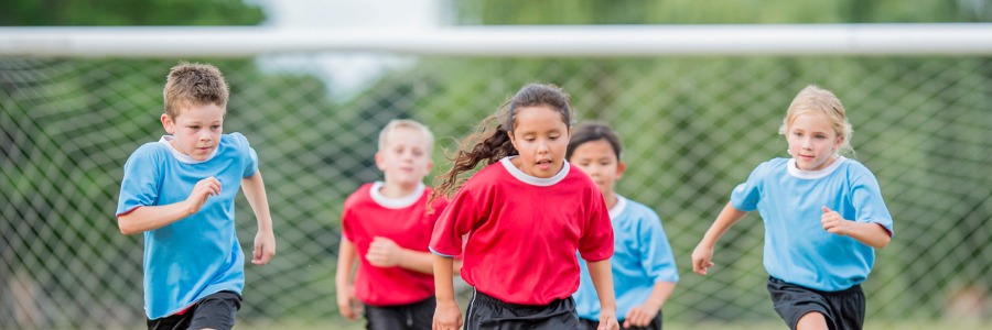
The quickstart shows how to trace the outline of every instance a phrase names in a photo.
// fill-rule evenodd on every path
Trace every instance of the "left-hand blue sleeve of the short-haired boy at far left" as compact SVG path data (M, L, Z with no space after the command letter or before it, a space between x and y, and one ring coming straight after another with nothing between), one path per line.
M128 157L120 183L117 217L138 207L153 206L158 202L159 187L162 184L159 167L161 157L158 143L144 144Z

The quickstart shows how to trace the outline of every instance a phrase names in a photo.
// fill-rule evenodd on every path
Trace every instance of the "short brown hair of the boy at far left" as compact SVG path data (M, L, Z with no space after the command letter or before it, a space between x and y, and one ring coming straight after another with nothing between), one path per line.
M217 105L227 108L227 81L216 66L180 62L165 77L165 114L175 119L183 107Z

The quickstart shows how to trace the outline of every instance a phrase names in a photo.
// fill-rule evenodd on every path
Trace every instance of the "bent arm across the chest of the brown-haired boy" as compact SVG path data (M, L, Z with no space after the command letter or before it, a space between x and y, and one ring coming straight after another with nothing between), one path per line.
M196 213L207 198L217 194L220 194L220 182L212 176L196 183L186 200L138 207L117 217L117 227L126 235L155 230Z

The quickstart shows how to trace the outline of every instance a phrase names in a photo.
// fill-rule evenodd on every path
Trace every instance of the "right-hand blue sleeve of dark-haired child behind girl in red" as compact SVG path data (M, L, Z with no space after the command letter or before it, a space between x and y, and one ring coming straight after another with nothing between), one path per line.
M675 254L671 252L671 244L668 243L661 219L655 212L646 213L638 228L640 255L644 256L641 266L655 283L679 282Z

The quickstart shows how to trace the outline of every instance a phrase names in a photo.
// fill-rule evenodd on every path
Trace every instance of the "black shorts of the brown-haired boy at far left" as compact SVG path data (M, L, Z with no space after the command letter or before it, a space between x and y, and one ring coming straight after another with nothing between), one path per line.
M219 292L200 299L186 309L183 315L171 315L164 318L148 320L149 330L185 330L213 328L229 330L234 328L235 315L241 308L241 295L233 292Z

